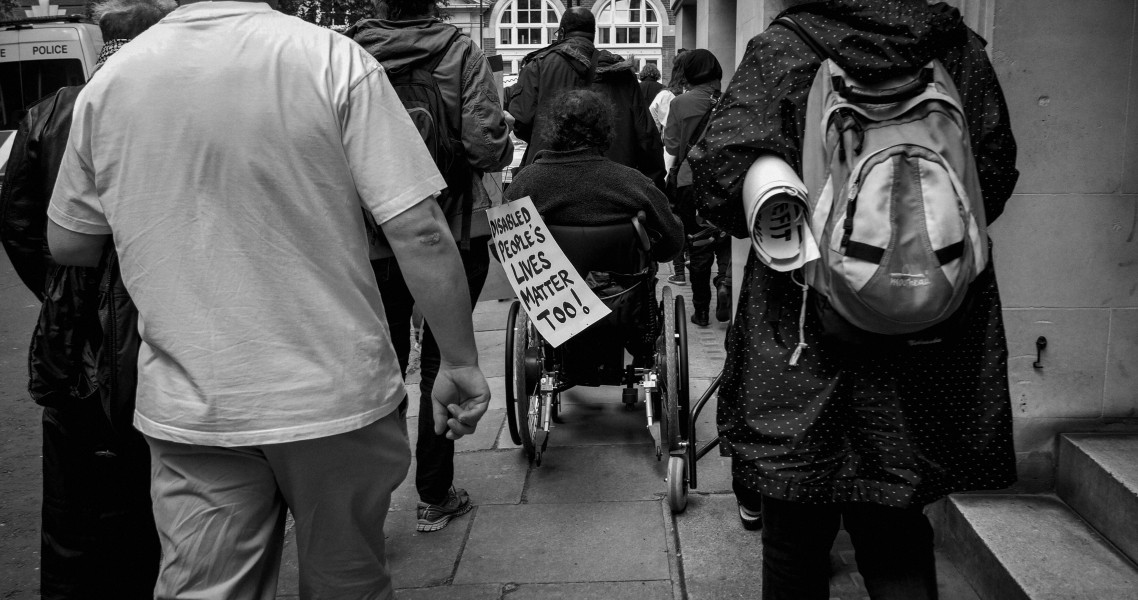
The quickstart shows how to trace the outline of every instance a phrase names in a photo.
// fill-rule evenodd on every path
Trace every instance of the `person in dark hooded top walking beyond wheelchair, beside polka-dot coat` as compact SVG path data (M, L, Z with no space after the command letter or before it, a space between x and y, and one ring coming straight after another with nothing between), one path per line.
M693 140L698 139L708 123L707 116L719 101L723 87L723 67L709 50L702 48L685 52L676 60L681 65L687 90L671 100L668 122L663 128L663 163L668 166L670 186L675 188L673 205L676 214L684 220L684 230L694 236L704 229L702 217L695 213L695 196L692 191L692 169L684 161ZM687 247L688 270L692 283L692 322L707 327L711 310L711 264L718 263L714 287L716 289L716 319L731 319L731 240L717 230L690 244ZM673 263L671 282L684 280L684 265Z

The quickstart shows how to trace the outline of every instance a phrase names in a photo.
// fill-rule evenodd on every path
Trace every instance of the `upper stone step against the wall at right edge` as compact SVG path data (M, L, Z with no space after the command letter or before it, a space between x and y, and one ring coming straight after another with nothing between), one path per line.
M1138 561L1138 435L1061 435L1055 487L1087 523Z

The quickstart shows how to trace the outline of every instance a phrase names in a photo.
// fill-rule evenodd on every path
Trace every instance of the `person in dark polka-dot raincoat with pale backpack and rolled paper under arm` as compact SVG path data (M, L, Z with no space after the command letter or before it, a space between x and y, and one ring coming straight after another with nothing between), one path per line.
M842 525L871 598L934 599L923 508L1015 482L1007 343L983 235L1019 178L1007 107L984 40L947 3L784 6L748 43L690 156L702 214L752 243L718 397L720 447L733 478L762 496L765 600L828 598ZM787 186L772 202L782 213L751 208L772 158L787 169L768 172L795 174L807 202ZM764 244L801 248L805 263L764 258ZM905 314L920 303L901 302L921 294L946 306L924 324ZM869 317L893 329L856 331Z

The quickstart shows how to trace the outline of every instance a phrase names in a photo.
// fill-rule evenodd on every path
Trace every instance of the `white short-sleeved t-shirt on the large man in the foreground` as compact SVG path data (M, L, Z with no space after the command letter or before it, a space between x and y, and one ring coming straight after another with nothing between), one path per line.
M135 426L239 446L403 400L361 206L445 187L379 64L248 2L170 14L80 94L49 216L114 233L140 313Z

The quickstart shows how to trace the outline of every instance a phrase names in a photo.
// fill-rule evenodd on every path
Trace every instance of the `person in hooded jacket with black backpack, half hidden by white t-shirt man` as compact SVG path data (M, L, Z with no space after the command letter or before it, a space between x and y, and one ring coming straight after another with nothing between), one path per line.
M345 34L384 65L446 179L447 189L438 200L459 243L473 305L489 270L489 224L484 215L488 204L480 189L481 174L502 171L513 158L494 74L473 40L437 17L435 0L382 0L377 8L381 18L356 23ZM382 240L373 245L373 258L384 311L405 377L414 299ZM415 443L420 502L415 528L434 532L469 511L471 504L467 492L453 485L454 442L436 435L431 420L439 348L429 322L423 328L420 365Z

